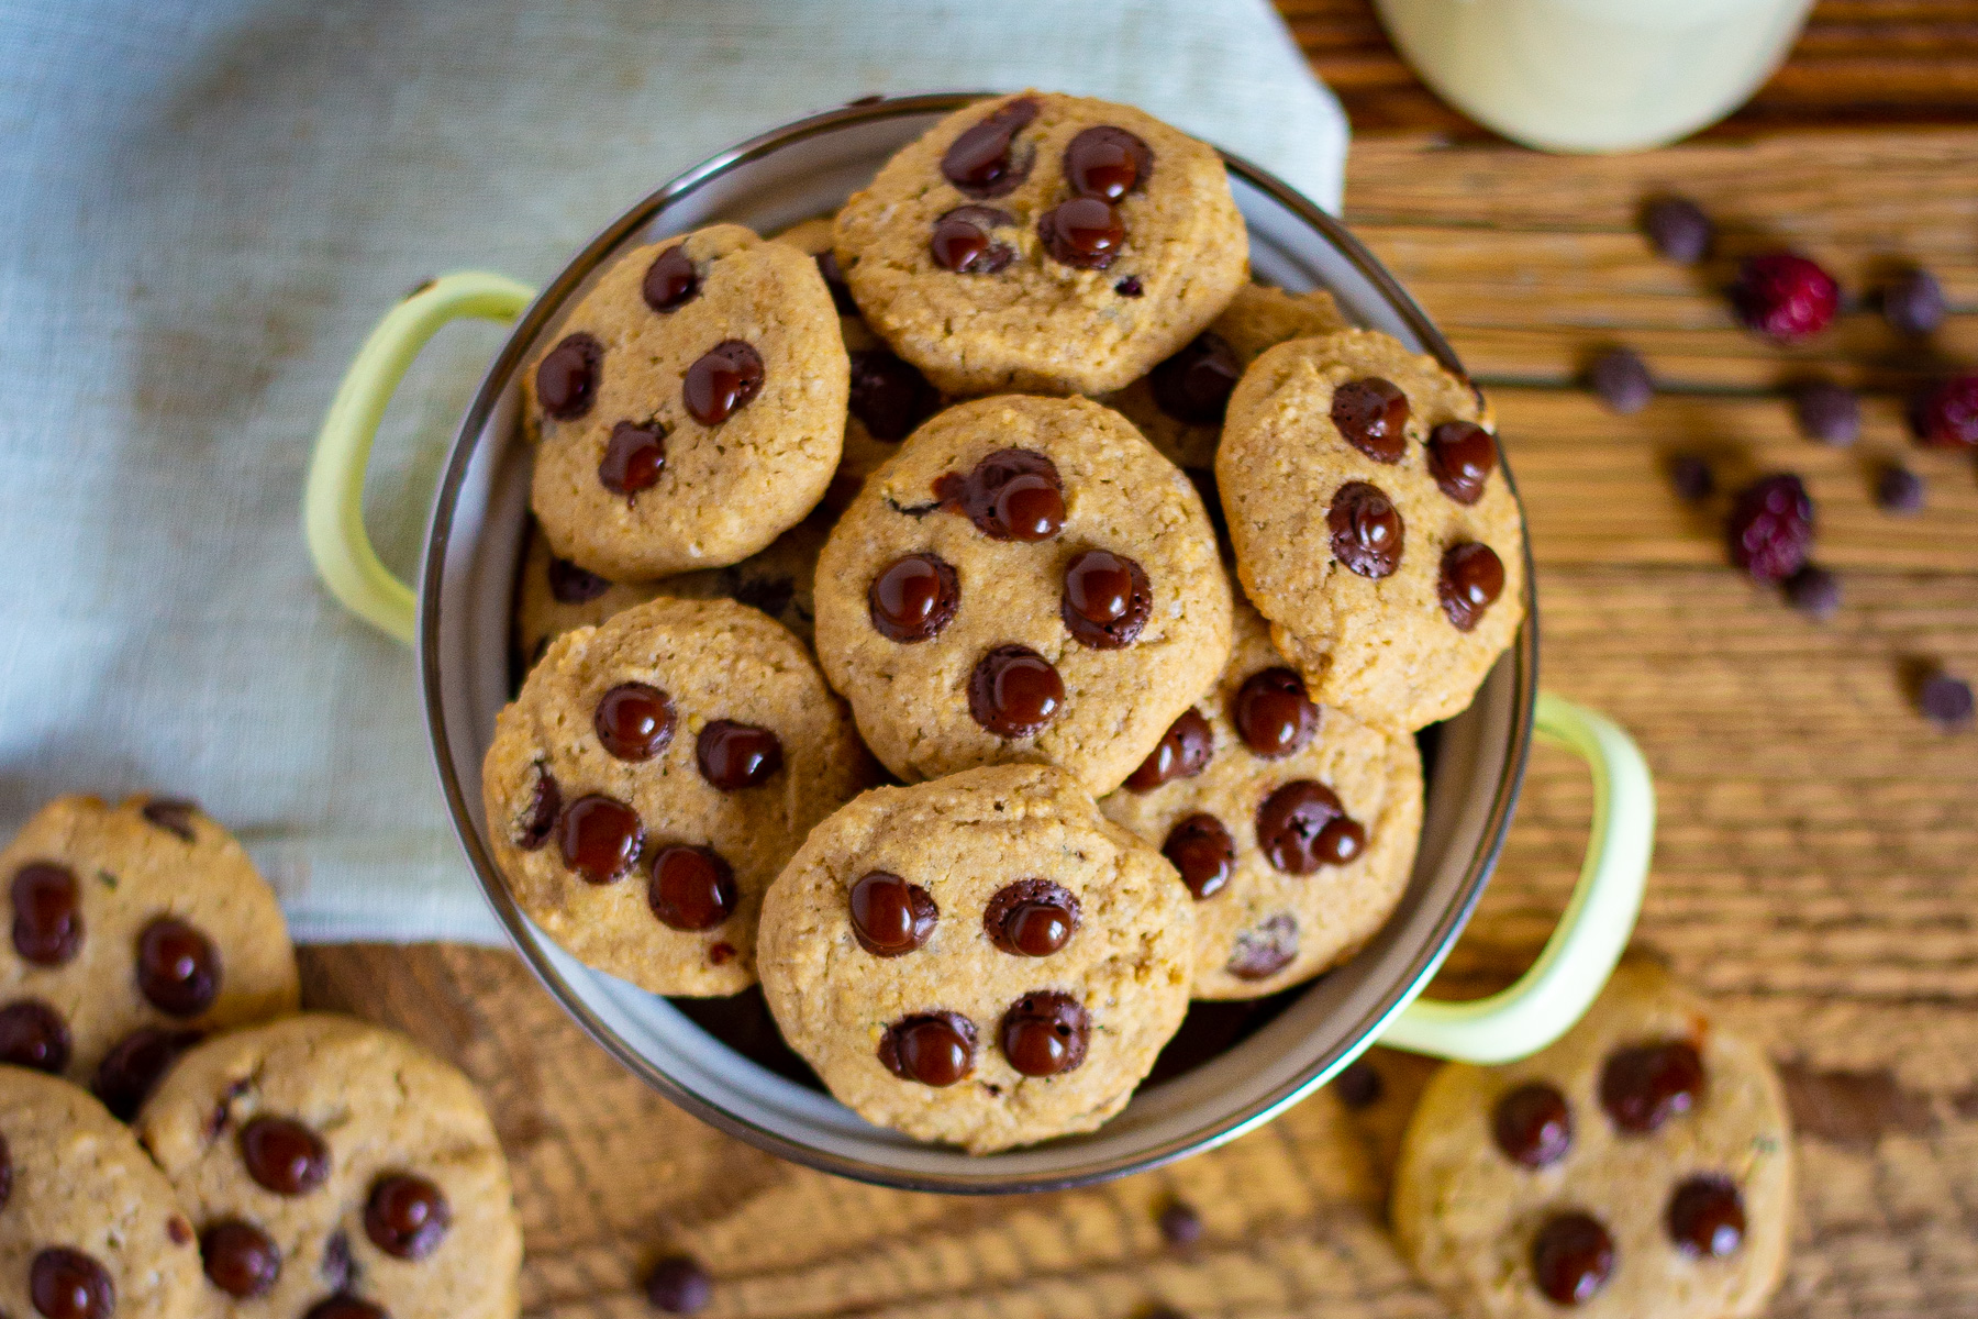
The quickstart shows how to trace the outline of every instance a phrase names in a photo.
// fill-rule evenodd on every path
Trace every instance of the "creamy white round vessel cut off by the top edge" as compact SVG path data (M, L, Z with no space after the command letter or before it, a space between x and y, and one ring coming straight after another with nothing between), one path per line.
M1478 123L1543 150L1644 150L1743 105L1812 0L1375 0L1394 45Z

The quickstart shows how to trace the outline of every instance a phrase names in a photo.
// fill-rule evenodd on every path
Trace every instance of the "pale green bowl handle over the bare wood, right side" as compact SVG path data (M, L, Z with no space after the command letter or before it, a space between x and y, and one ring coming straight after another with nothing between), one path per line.
M1547 692L1539 692L1537 732L1578 753L1594 775L1592 838L1573 900L1515 985L1474 1003L1416 999L1381 1034L1383 1044L1462 1062L1535 1054L1580 1018L1628 947L1656 846L1648 761L1618 724Z

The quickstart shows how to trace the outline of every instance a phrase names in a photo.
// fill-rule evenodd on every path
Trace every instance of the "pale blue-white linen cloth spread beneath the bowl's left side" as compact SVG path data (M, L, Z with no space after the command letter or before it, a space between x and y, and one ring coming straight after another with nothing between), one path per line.
M1131 101L1337 210L1345 119L1266 0L0 2L0 831L200 799L297 939L500 941L409 653L318 587L315 427L427 275L544 281L676 170L874 91ZM500 330L378 441L411 575Z

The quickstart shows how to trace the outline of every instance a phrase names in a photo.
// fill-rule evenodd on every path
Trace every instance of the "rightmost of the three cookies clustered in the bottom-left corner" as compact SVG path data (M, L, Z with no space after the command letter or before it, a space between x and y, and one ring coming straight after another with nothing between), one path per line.
M202 1315L518 1309L494 1123L465 1076L394 1030L311 1012L218 1036L136 1131L198 1232Z

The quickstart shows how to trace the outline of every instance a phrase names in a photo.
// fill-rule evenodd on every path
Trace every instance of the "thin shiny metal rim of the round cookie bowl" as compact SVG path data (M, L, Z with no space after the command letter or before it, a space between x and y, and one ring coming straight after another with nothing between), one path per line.
M667 1101L676 1107L686 1109L700 1121L716 1127L718 1131L738 1137L765 1153L777 1155L779 1159L789 1159L791 1163L811 1167L823 1173L833 1173L837 1177L847 1177L851 1181L868 1183L876 1187L892 1187L900 1190L930 1190L947 1194L1017 1194L1017 1192L1036 1192L1036 1190L1066 1190L1076 1187L1090 1187L1096 1183L1106 1183L1116 1177L1125 1177L1131 1173L1141 1173L1157 1169L1161 1165L1173 1163L1177 1159L1189 1157L1232 1141L1238 1135L1270 1121L1286 1107L1298 1103L1313 1090L1329 1082L1341 1068L1345 1068L1353 1058L1367 1050L1381 1034L1381 1028L1400 1012L1422 987L1440 969L1442 959L1448 955L1456 937L1462 933L1476 910L1478 900L1495 870L1497 858L1503 850L1505 835L1509 833L1511 815L1517 809L1517 797L1525 781L1525 763L1531 751L1533 740L1533 712L1537 702L1539 686L1539 613L1537 613L1537 587L1533 577L1531 562L1531 534L1529 528L1521 534L1521 554L1525 558L1525 621L1519 627L1517 637L1511 643L1509 655L1513 657L1513 696L1511 696L1511 730L1509 746L1505 747L1505 767L1497 779L1497 791L1491 799L1489 813L1482 827L1480 846L1470 858L1464 872L1462 884L1456 896L1446 904L1436 920L1432 933L1424 939L1422 949L1410 961L1408 973L1398 977L1381 1001L1361 1014L1361 1020L1347 1032L1349 1044L1339 1048L1335 1056L1323 1058L1309 1068L1305 1068L1296 1078L1288 1080L1284 1086L1272 1094L1256 1099L1240 1113L1224 1117L1189 1135L1163 1141L1147 1151L1133 1155L1120 1155L1102 1159L1098 1163L1082 1165L1068 1173L1040 1173L1040 1175L1019 1175L1001 1181L987 1179L961 1179L949 1177L945 1173L906 1173L890 1169L884 1165L874 1165L858 1159L849 1159L825 1149L817 1149L803 1141L791 1139L781 1131L773 1131L742 1115L736 1115L712 1099L684 1088L669 1074L653 1066L639 1050L635 1050L627 1040L623 1040L615 1030L611 1030L582 995L578 995L562 977L562 973L550 963L548 955L536 943L530 933L530 922L522 914L520 906L508 894L506 884L500 878L498 868L487 852L479 831L473 827L473 807L467 799L461 779L453 769L453 751L449 744L449 730L445 718L445 680L441 674L441 653L443 653L443 629L441 629L441 583L445 579L447 568L447 548L453 534L453 512L459 504L461 488L467 481L471 459L485 433L489 421L494 417L500 405L502 394L508 388L510 378L520 366L524 350L534 344L542 328L562 310L568 297L589 277L589 273L605 261L617 247L637 229L649 225L657 216L682 198L690 196L704 184L720 178L722 174L734 170L736 166L748 164L762 156L767 156L783 146L801 142L811 136L819 136L843 127L860 125L868 121L900 119L910 115L928 113L947 113L957 111L975 101L989 97L999 97L1007 93L999 91L934 91L916 93L902 97L860 97L849 101L843 107L829 109L805 119L791 121L777 129L760 132L744 142L738 142L722 152L716 152L702 160L700 164L682 170L669 182L661 184L657 190L647 194L643 200L627 208L617 220L607 223L603 229L591 237L589 243L554 277L542 287L528 308L514 320L508 338L502 342L500 352L489 364L475 397L463 413L461 425L455 433L453 445L447 453L447 463L439 479L439 486L433 496L433 514L425 538L425 562L419 570L419 678L421 696L425 702L425 722L427 734L433 747L435 769L439 771L441 791L447 799L447 811L453 817L455 835L461 840L461 848L467 854L469 864L475 870L475 878L481 884L483 896L500 922L502 931L508 935L508 943L522 957L534 977L548 989L550 997L584 1028L584 1032L599 1044L607 1054L611 1054L623 1068L645 1082L649 1088L659 1092ZM1389 303L1389 307L1408 324L1408 328L1420 338L1422 346L1448 370L1458 374L1462 380L1470 380L1456 350L1450 348L1448 340L1434 326L1428 314L1414 303L1414 299L1400 287L1400 283L1383 267L1367 247L1353 237L1347 227L1323 212L1317 204L1305 198L1302 192L1270 174L1268 170L1252 164L1250 160L1216 148L1224 160L1224 166L1232 176L1242 178L1246 184L1268 194L1274 202L1284 206L1288 212L1298 216L1305 225L1315 229L1327 243L1331 243L1339 255L1343 255L1353 269L1367 279L1375 291ZM1511 479L1509 465L1503 463L1501 471L1505 483L1511 488L1511 498L1517 500L1519 512L1523 514L1523 500L1517 494L1517 484Z

